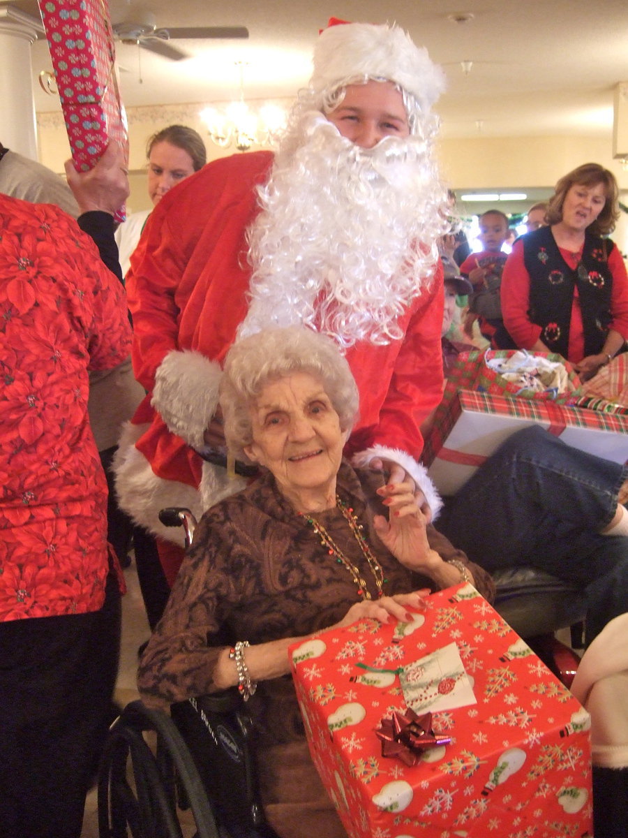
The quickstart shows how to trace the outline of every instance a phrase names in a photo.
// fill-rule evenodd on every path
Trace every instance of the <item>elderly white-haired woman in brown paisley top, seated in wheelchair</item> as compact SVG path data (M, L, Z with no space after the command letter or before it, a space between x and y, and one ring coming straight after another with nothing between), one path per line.
M330 340L289 328L235 344L221 393L229 450L264 473L203 515L138 684L153 706L237 685L270 824L281 838L344 835L307 752L288 647L358 618L403 620L461 579L494 588L412 484L342 460L358 392Z

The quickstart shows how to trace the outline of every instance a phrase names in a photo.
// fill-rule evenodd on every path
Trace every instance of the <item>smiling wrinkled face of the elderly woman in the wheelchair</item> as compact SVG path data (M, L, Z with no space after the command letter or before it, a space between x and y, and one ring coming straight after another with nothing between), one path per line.
M295 510L336 505L336 475L347 433L316 375L295 372L271 380L251 406L251 424L247 457L273 473Z

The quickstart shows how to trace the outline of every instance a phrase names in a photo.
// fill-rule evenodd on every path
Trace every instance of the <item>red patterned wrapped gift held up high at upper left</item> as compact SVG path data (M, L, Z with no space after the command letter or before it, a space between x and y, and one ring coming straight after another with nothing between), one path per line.
M126 115L106 0L40 0L72 159L92 168L111 140L128 160ZM124 207L116 220L125 220Z

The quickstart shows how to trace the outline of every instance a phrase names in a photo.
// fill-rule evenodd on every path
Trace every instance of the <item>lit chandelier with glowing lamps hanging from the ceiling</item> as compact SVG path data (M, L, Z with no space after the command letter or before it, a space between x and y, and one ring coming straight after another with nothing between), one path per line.
M275 142L286 124L286 112L281 107L265 104L254 110L245 102L246 64L235 62L239 70L239 100L230 102L224 111L207 107L200 115L212 142L221 148L234 145L239 152Z

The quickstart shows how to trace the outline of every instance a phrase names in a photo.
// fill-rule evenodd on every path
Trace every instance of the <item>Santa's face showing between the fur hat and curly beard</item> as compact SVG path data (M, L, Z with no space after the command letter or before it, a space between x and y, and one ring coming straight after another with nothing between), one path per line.
M342 102L327 119L361 148L373 148L383 137L410 134L403 96L392 81L347 85Z

